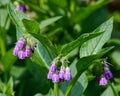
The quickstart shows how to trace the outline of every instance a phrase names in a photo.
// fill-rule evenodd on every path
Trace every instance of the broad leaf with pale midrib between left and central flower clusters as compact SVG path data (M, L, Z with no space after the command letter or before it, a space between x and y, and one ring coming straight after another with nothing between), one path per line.
M47 79L47 72L49 66L54 58L54 53L43 46L41 43L37 43L34 54L31 57L31 60L40 66L41 76Z

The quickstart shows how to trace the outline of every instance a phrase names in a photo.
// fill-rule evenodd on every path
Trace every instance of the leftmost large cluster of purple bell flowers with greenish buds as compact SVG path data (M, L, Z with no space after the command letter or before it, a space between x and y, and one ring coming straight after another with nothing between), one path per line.
M15 45L13 55L18 56L19 59L25 59L31 56L31 51L33 50L34 48L27 43L27 40L24 37L21 37Z

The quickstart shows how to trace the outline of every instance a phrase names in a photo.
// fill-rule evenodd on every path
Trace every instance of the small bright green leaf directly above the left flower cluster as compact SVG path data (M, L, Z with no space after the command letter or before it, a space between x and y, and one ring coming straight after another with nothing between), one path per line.
M37 23L36 21L34 20L28 20L28 19L23 19L22 20L25 28L26 28L26 31L27 32L30 32L30 33L38 33L39 32L39 23Z

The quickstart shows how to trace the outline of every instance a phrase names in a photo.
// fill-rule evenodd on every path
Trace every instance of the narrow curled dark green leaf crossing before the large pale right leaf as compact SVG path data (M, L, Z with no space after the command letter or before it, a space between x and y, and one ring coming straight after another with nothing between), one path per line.
M102 31L101 31L102 32ZM96 36L101 35L102 33L86 33L83 34L81 36L79 36L76 40L65 44L62 49L61 49L61 54L63 55L67 55L69 54L73 49L75 49L76 47L80 47L85 41L92 39Z

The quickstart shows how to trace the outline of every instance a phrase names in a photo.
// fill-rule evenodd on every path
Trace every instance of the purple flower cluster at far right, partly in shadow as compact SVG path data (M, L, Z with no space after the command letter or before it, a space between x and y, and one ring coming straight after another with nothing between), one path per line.
M113 77L112 72L109 69L107 64L104 64L104 71L100 77L97 77L97 81L99 85L106 85L108 84L108 80Z

